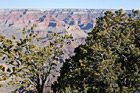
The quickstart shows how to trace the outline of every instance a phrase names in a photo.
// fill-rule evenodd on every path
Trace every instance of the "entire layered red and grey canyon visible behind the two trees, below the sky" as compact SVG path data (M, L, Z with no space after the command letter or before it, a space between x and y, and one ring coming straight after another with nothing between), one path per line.
M67 54L63 59L73 54L74 48L85 42L87 33L96 25L96 18L104 15L105 9L0 9L0 34L11 38L22 37L22 29L26 28L27 33L38 33L42 36L41 46L47 44L51 33L60 35L72 34L74 41L65 46ZM110 10L115 11L115 10ZM131 13L126 10L125 12ZM29 30L35 24L35 30ZM9 89L0 89L0 93L8 93Z

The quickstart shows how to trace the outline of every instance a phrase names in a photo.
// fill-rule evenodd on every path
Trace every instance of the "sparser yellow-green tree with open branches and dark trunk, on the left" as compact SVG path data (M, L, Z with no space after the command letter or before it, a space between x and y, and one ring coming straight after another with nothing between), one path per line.
M27 34L25 28L22 33L24 37L19 40L15 40L14 35L12 39L0 35L0 57L9 67L0 66L0 81L8 79L8 85L27 90L36 88L39 93L43 93L48 77L55 76L52 71L56 71L55 67L64 54L62 47L71 36L53 33L49 43L42 47L39 45L42 37L37 37L38 34Z

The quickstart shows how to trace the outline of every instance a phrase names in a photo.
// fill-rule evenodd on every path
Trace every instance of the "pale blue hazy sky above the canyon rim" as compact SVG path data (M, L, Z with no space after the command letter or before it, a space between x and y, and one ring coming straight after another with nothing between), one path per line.
M0 8L140 9L140 0L0 0Z

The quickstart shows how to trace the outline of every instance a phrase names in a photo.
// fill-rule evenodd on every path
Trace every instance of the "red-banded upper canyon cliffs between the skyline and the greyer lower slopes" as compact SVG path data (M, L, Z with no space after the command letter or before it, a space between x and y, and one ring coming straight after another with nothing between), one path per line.
M0 24L7 27L62 27L77 25L82 30L94 27L96 18L106 10L97 9L1 9ZM1 26L2 27L2 26ZM44 29L47 30L47 29Z

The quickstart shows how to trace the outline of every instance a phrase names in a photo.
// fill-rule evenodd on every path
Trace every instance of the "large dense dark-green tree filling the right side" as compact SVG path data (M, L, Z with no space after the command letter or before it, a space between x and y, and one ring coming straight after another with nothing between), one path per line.
M131 93L140 91L140 18L123 10L97 18L84 45L67 59L52 89L58 92ZM67 92L68 93L68 92Z

